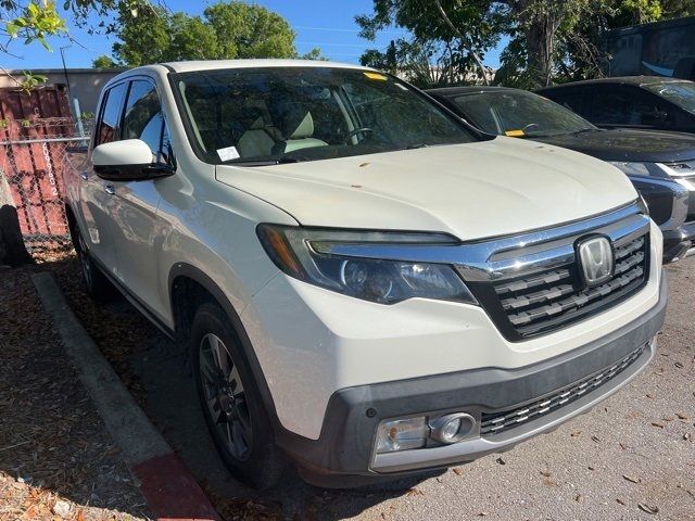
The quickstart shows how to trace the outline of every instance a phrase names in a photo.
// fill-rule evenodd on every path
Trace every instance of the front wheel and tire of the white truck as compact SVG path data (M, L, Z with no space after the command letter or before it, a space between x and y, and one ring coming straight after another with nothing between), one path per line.
M215 304L198 308L190 335L195 387L210 434L229 471L247 485L270 488L282 476L286 459L275 445L258 386L229 322Z

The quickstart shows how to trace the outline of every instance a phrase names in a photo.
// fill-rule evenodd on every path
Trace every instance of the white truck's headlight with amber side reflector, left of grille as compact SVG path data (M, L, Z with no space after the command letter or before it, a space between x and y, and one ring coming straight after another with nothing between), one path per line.
M332 253L337 245L382 245L388 247L389 258L394 258L393 252L397 252L399 246L456 244L446 234L321 230L275 225L260 225L257 233L278 268L311 284L380 304L414 297L477 304L450 265L388 260L378 258L378 254L371 258Z

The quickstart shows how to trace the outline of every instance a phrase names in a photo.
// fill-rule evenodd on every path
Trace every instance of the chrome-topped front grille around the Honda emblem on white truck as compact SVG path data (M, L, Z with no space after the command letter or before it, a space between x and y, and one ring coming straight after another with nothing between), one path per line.
M624 214L599 226L577 225L569 234L493 252L488 280L467 280L500 331L510 341L549 333L604 312L643 288L649 272L649 225L642 214ZM615 271L606 282L586 287L577 262L578 241L608 237ZM466 279L468 274L462 272Z

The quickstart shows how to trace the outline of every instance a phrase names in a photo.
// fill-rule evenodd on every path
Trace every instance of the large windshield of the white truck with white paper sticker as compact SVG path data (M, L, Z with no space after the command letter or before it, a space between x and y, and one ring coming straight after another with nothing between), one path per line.
M210 163L274 164L480 139L392 76L332 67L176 76L189 137Z

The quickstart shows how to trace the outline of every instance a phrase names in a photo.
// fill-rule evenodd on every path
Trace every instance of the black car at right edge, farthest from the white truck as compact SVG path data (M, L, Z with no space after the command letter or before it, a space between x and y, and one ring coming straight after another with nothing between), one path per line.
M602 78L538 90L603 128L695 134L695 82L660 76Z

